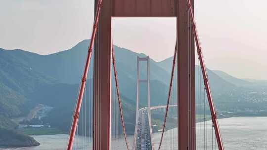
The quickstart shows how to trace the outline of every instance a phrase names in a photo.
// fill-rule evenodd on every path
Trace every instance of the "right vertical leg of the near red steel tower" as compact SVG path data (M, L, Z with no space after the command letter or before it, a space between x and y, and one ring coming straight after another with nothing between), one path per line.
M177 7L178 150L195 150L194 37L187 1L178 0Z

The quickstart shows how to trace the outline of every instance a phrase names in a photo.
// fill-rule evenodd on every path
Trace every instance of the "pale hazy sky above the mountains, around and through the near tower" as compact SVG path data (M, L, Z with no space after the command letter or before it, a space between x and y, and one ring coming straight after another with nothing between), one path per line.
M195 0L208 68L267 79L267 0ZM0 0L0 47L39 54L88 39L93 0ZM156 61L173 55L174 18L114 18L114 44Z

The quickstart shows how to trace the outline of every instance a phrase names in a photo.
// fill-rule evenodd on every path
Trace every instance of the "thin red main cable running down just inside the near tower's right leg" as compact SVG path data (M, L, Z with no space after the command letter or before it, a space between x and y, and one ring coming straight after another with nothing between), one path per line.
M168 110L169 110L169 105L170 105L170 98L171 98L171 93L172 93L172 86L173 86L174 70L175 70L175 64L176 64L175 63L176 62L176 55L177 55L177 44L175 46L175 53L174 53L173 67L172 67L172 75L171 75L171 81L170 81L170 86L169 86L169 94L168 94L168 100L167 100L167 107L166 107L166 112L165 112L165 116L164 116L163 130L162 130L162 134L161 134L158 150L160 150L160 147L161 147L161 144L162 144L162 140L163 140L164 131L165 131L165 127L166 127L166 119L167 119L167 115L168 115Z

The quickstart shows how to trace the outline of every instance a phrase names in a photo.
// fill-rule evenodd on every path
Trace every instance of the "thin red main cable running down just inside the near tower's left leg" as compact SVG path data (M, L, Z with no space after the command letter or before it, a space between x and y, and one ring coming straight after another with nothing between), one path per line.
M114 70L117 97L118 97L118 102L119 102L121 124L122 124L122 128L123 128L123 134L124 134L124 139L125 139L127 150L130 150L129 149L129 144L128 144L128 141L127 141L127 137L126 137L125 123L124 123L124 119L123 119L123 110L122 110L122 103L121 103L121 97L120 97L120 92L119 92L118 76L117 76L117 71L116 71L115 56L114 56L114 49L113 49L113 43L112 42L111 42L111 47L112 47L111 48L112 64L113 64L113 70Z

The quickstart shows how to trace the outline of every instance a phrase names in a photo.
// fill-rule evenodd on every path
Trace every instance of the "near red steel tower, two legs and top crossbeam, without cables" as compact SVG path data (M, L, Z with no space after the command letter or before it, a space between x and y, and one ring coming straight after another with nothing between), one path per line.
M95 10L96 8L97 4L95 4ZM192 33L188 30L189 12L186 0L103 0L94 46L93 150L110 150L111 19L113 17L177 18L178 148L195 150L193 109L195 107L193 62L195 55L193 46L189 47L188 39ZM193 41L194 39L190 38L191 45L194 45ZM192 104L190 108L184 107L189 106L189 102Z

